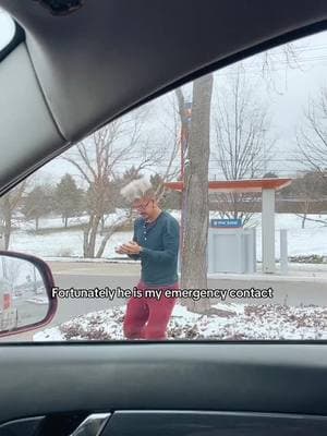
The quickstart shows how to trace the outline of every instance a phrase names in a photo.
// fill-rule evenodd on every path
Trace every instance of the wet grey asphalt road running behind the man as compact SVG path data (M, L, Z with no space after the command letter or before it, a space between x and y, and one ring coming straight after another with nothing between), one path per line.
M56 286L60 289L117 288L132 289L140 277L140 264L110 263L49 263ZM267 300L231 299L241 303L279 303L288 305L327 305L327 276L240 276L219 275L208 278L209 289L267 289L271 288L274 298ZM216 300L218 301L218 300ZM123 305L124 299L59 299L57 314L48 327L64 323L77 315ZM32 332L12 337L11 340L32 340ZM3 341L3 340L2 340Z

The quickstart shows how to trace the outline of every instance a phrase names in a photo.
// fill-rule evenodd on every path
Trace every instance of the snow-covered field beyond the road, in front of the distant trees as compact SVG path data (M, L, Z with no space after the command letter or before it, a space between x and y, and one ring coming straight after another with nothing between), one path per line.
M180 211L171 214L180 220ZM107 222L112 222L118 216L123 216L124 210L118 209L117 214L107 216ZM210 213L210 217L217 217L217 213ZM327 215L312 215L313 219L325 219ZM70 225L85 221L87 217L71 218ZM276 257L279 258L279 230L288 229L289 256L316 254L327 256L327 226L319 222L306 221L305 229L301 229L302 219L294 214L276 214ZM262 259L261 241L261 214L254 214L250 226L256 226L257 259ZM48 218L40 220L40 228L61 228L61 218ZM31 253L40 257L83 257L83 232L78 229L56 231L52 233L34 234L27 230L34 229L34 222L22 223L20 230L12 233L10 249ZM131 240L131 231L116 232L109 240L104 257L125 257L114 252L114 246ZM97 247L102 237L97 238Z

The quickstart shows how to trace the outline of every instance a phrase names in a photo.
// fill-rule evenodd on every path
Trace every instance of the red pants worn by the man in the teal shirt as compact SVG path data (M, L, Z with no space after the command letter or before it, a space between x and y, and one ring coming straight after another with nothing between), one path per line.
M137 289L179 289L179 283L168 287L146 286L138 281ZM166 328L173 306L178 299L169 299L161 294L160 299L132 296L128 302L128 310L123 324L124 336L128 339L166 339Z

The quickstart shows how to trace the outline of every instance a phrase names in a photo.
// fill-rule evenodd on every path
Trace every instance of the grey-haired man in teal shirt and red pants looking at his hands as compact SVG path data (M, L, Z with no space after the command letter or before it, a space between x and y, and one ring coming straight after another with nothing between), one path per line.
M166 339L166 329L177 299L167 298L166 289L179 289L178 253L179 222L161 210L152 185L146 180L135 180L121 190L132 202L140 217L134 221L133 241L120 245L116 252L141 259L142 272L137 289L159 289L160 299L134 298L128 302L123 324L128 339Z

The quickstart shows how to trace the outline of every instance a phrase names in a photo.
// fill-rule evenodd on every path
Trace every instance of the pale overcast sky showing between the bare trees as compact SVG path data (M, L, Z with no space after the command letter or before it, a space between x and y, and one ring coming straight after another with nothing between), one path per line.
M13 29L13 23L3 13L0 13L0 47L9 43ZM254 85L257 100L267 105L271 118L271 135L277 138L277 153L267 169L276 171L279 177L287 177L294 174L296 169L303 169L299 162L294 162L292 159L295 131L303 123L303 111L307 106L308 98L316 97L319 89L327 86L327 32L302 38L294 44L296 63L292 63L293 68L287 68L286 58L280 48L270 50L270 52L275 60L274 69L270 69L270 82L262 74L262 55L245 61L244 71L250 85ZM233 71L234 66L229 66L215 74L214 93L218 93L218 86L221 86L221 90L223 86L228 85ZM155 142L160 142L167 136L162 134L162 119L168 117L166 108L168 100L167 97L161 97L161 100L153 104L152 107L156 109L148 116L147 130L152 132L152 138ZM172 120L167 119L167 122L172 122ZM168 147L167 144L162 144L162 146ZM175 165L179 165L179 159ZM119 168L120 172L123 170L124 166ZM76 173L72 167L57 158L39 170L38 180L47 177L48 180L56 182L64 172ZM215 164L211 164L211 177L219 178L219 170Z

